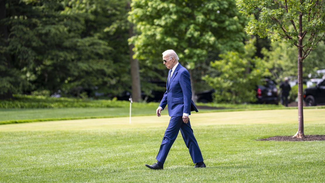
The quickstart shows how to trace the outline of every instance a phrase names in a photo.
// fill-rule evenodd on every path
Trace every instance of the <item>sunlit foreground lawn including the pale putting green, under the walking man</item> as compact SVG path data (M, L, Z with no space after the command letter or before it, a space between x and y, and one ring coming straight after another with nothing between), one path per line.
M305 134L325 134L325 109L305 109ZM195 113L192 129L207 168L194 169L179 134L163 170L155 157L169 117L0 125L0 182L325 182L325 141L293 135L297 110Z

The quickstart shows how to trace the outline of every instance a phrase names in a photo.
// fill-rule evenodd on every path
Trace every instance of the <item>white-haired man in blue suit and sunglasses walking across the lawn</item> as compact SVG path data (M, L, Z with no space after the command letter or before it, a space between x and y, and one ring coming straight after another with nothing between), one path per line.
M178 63L178 56L172 49L164 51L162 53L162 59L163 64L170 70L167 78L167 90L162 97L156 113L160 117L160 112L168 105L168 114L171 118L156 157L158 162L153 165L145 165L150 169L163 169L168 152L180 130L192 161L196 163L194 168L203 168L205 164L201 150L194 137L188 118L191 111L199 112L191 99L191 80L188 70Z

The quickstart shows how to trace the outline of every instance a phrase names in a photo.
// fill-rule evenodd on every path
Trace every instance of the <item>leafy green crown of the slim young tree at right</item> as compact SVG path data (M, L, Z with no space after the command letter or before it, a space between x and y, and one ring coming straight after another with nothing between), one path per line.
M259 14L258 20L251 19L245 28L251 35L268 36L272 41L286 40L293 46L299 39L300 12L303 31L307 34L324 32L324 6L318 1L238 0L237 6L247 16ZM305 45L308 47L313 41L315 40L308 40Z

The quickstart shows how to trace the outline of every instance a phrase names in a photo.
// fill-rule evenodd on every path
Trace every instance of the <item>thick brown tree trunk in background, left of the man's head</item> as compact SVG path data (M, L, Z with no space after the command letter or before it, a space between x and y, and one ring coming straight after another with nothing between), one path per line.
M130 24L129 29L129 37L132 37L134 34L133 32L133 24ZM140 72L139 72L139 62L137 59L133 59L133 49L134 45L129 45L130 50L130 63L131 63L131 78L132 78L132 100L133 102L140 102L141 100L141 85L140 85Z

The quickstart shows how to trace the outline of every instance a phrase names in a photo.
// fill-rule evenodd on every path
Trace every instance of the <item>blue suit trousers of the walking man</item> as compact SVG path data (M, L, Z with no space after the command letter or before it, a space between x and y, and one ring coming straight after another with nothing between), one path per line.
M169 125L165 131L165 135L162 138L162 144L160 146L157 161L164 163L170 148L172 147L179 130L183 136L186 147L191 155L193 163L202 162L203 157L199 145L194 137L191 124L183 122L182 116L173 116L170 118Z

